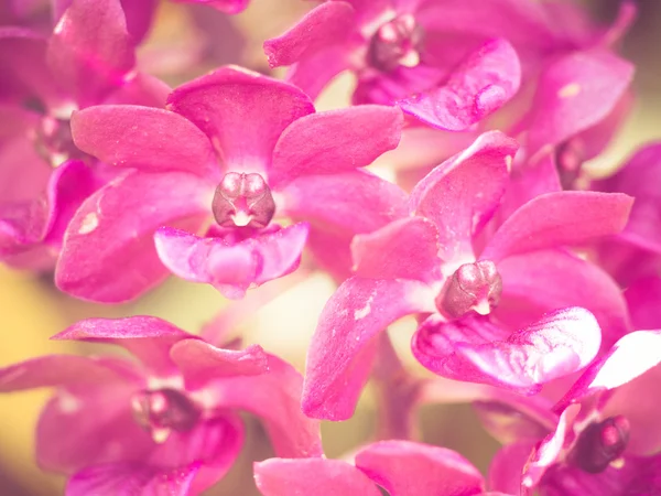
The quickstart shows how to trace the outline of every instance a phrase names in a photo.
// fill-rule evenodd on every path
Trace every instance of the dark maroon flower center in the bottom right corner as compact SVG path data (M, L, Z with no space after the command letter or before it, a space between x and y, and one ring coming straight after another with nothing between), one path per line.
M604 472L617 460L629 442L629 421L622 416L590 423L568 455L573 465L590 474Z

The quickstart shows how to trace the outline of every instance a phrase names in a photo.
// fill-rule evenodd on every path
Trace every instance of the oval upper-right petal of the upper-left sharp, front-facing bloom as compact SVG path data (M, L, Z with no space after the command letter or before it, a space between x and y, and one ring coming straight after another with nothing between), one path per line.
M403 121L399 109L379 105L302 117L275 144L269 184L279 187L301 175L335 174L369 165L398 145Z

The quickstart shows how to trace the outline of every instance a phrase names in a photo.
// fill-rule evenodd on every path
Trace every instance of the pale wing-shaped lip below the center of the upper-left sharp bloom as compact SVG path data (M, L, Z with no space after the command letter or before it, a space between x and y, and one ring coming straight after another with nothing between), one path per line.
M227 298L242 298L248 288L297 269L307 231L306 223L297 223L236 242L163 227L154 240L161 261L176 276L209 283Z

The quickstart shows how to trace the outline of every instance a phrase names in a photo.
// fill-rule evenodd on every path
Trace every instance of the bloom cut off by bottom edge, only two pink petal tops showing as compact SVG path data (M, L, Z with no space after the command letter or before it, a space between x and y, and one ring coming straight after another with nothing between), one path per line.
M485 481L470 462L445 448L411 441L381 441L358 451L355 465L328 459L271 459L254 464L263 496L365 495L473 496ZM503 495L505 496L505 495Z

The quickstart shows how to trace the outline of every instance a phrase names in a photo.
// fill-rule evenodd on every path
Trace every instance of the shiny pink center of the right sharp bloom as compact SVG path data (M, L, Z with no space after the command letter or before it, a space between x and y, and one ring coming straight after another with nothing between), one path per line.
M491 260L464 263L436 298L436 308L453 319L469 310L486 315L500 302L502 279Z

